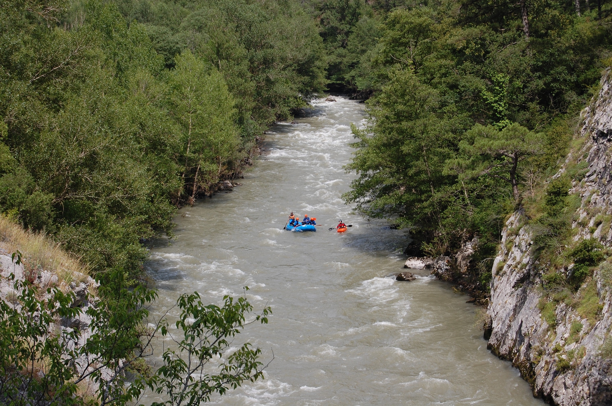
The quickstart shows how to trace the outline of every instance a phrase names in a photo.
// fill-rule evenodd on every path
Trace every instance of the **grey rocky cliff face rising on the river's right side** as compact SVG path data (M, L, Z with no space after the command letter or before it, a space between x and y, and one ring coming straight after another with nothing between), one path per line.
M573 181L570 189L581 199L573 216L574 238L594 237L606 247L612 247L611 79L607 71L599 95L583 112L579 134L583 147L573 151L560 172L570 161L584 167L586 175ZM610 274L600 267L592 277L591 286L597 290L593 300L600 306L595 319L581 316L576 306L565 302L543 314L542 271L536 270L532 228L523 227L525 223L524 212L517 211L502 233L487 309L488 347L511 360L532 384L534 395L551 404L612 405L612 360L609 353L602 353L606 338L612 342Z

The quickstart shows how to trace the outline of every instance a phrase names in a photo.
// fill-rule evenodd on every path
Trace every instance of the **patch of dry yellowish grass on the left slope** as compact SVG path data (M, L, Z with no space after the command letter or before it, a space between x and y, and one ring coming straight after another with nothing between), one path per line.
M58 276L58 284L85 281L88 269L75 256L62 250L42 233L31 233L6 216L0 215L0 248L9 253L21 252L24 267L48 270Z

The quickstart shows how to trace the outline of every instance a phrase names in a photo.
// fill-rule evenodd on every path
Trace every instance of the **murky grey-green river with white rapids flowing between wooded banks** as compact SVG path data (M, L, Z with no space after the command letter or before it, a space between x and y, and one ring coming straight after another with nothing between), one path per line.
M266 379L212 404L542 405L487 350L469 297L424 271L412 282L386 277L402 270L405 232L349 214L340 197L354 178L343 165L363 107L315 101L297 124L267 132L267 153L242 186L181 209L176 237L155 244L146 264L159 288L154 314L184 292L221 303L242 286L255 310L272 307L269 324L242 333L264 363L274 352ZM290 211L324 227L283 231ZM327 231L339 219L353 227Z

